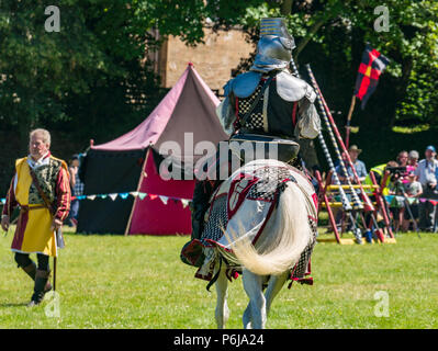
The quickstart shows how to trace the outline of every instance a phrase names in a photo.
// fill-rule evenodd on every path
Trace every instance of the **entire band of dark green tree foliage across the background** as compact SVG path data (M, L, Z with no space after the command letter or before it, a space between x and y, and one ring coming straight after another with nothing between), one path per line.
M42 0L0 1L0 129L70 132L105 141L142 121L162 95L148 59L168 35L203 42L203 26L242 26L258 39L263 16L284 16L297 64L312 64L335 118L345 124L364 44L391 59L364 111L362 138L395 124L438 125L435 0L59 0L60 32L46 32ZM374 30L389 10L389 32ZM159 33L159 35L157 34ZM239 66L248 68L250 58ZM301 69L305 78L305 70ZM386 133L386 132L382 132ZM353 136L353 140L355 140ZM83 144L85 144L83 143ZM25 146L26 143L21 143Z

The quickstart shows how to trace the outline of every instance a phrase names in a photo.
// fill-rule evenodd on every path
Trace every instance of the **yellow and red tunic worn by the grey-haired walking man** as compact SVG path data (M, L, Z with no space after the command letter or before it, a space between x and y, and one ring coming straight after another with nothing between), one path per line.
M55 208L55 218L66 219L70 210L71 192L65 161L50 154L37 162L32 161L30 157L16 160L16 173L11 181L3 207L3 214L10 215L14 207L20 206L20 217L11 250L56 257L56 235L50 230L54 216L33 184L31 168Z

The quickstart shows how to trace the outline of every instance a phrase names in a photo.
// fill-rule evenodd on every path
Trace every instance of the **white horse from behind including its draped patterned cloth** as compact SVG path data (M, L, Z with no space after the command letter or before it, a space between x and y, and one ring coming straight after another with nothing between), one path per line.
M277 180L263 177L267 172L273 172ZM267 190L269 184L273 184L274 191ZM238 196L242 194L236 195L237 189L246 189L242 191L244 197L240 200ZM265 211L268 197L263 199L261 194L269 192L273 204ZM249 193L252 197L256 194L256 201L248 200ZM235 211L233 206L240 203L226 226L222 226L222 238L210 248L213 250L211 256L221 258L214 263L217 327L225 328L229 316L226 271L233 265L242 271L244 288L249 297L243 316L244 328L265 328L272 301L291 276L291 270L306 249L311 248L312 252L317 220L315 190L297 169L278 160L262 159L236 170L214 194L215 199L221 195L227 199L222 206L227 206L228 218L229 212ZM210 216L213 206L214 201ZM221 226L216 220L217 225ZM221 260L226 264L221 264Z

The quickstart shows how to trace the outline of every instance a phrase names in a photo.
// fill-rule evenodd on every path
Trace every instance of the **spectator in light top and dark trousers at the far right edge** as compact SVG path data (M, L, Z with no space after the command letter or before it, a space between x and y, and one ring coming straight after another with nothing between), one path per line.
M425 158L418 162L415 170L415 176L423 186L423 197L437 200L437 171L438 160L436 159L437 151L434 146L429 145L425 150ZM419 203L419 228L423 230L431 231L435 220L435 207L428 202Z

